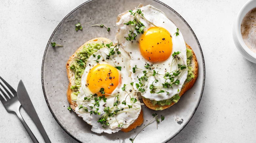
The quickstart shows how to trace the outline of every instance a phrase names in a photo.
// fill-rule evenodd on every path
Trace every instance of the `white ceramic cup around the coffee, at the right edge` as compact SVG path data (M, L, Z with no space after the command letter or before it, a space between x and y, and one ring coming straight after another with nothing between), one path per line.
M233 39L238 51L249 61L256 63L256 53L249 49L241 34L241 24L245 14L256 7L256 0L249 0L240 9L235 23L233 24ZM256 38L256 37L255 37Z

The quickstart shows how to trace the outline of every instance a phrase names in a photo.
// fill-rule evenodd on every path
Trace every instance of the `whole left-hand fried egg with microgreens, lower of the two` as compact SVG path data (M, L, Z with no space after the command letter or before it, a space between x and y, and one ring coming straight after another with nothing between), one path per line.
M129 63L129 55L114 46L87 59L75 112L92 125L93 132L115 133L138 118L141 105L131 84Z

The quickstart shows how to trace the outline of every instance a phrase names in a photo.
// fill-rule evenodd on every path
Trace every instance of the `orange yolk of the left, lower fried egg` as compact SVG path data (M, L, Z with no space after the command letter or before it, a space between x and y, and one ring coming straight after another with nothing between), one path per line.
M98 64L93 67L87 76L87 86L93 94L98 96L111 94L119 84L119 72L108 64ZM104 88L105 94L100 93L100 88Z

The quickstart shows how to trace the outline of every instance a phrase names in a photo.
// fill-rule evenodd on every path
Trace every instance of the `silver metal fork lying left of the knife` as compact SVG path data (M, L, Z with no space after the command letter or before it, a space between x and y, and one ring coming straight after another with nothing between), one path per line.
M20 102L18 101L18 97L17 97L17 92L0 76L0 79L2 80L2 82L6 85L6 87L9 88L6 89L6 87L1 83L0 81L0 85L3 87L3 89L6 91L6 93L9 95L9 97L7 96L7 94L1 89L0 87L0 92L3 94L3 96L6 98L6 100L2 97L2 95L0 94L0 100L3 103L5 109L7 110L7 112L15 112L16 115L18 116L18 118L20 119L22 125L24 126L24 128L26 129L26 131L28 132L30 138L32 139L32 141L34 143L39 143L38 140L36 139L36 137L34 136L34 134L32 133L32 131L30 130L29 126L27 125L27 123L24 121L24 119L22 118L21 114L20 114ZM12 94L14 96L12 96Z

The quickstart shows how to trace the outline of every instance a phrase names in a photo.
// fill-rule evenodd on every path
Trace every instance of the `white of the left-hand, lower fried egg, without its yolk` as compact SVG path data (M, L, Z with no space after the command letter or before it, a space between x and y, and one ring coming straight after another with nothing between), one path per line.
M133 86L130 85L132 82L131 80L131 73L130 73L130 57L129 55L122 49L119 48L119 51L121 54L117 55L117 52L115 55L111 56L110 59L106 59L107 55L109 54L109 48L102 48L99 51L95 52L94 55L96 57L90 56L86 62L86 68L85 71L81 77L81 88L79 89L78 96L77 96L77 107L75 108L75 112L79 117L82 117L84 121L86 121L88 124L92 125L92 131L96 133L115 133L118 132L122 128L127 128L130 124L132 124L139 116L141 106L139 100L136 103L133 103L131 101L131 98L136 98L136 94L133 92L130 92L130 90L134 91ZM100 59L98 59L99 63L97 63L95 60L97 59L97 55L100 55ZM104 59L104 60L103 60ZM86 79L88 76L89 71L96 66L97 64L109 64L112 66L121 66L121 71L119 71L120 78L121 78L121 84L117 86L117 88L112 92L112 95L118 95L120 103L122 103L124 100L126 101L126 105L119 104L117 105L118 108L124 107L124 110L120 110L114 118L109 119L109 125L104 126L106 128L103 128L102 124L97 122L104 114L104 108L110 107L112 108L114 106L114 102L116 102L117 97L116 96L108 96L106 97L107 100L104 102L103 100L99 101L99 106L95 106L98 108L98 112L100 112L100 115L91 114L90 111L92 109L90 106L93 106L94 100L84 100L84 97L89 97L91 94L90 89L86 86ZM123 87L123 84L128 84L125 87L125 91L121 90L121 87ZM130 94L129 94L130 93ZM129 94L129 95L128 95ZM94 97L92 97L93 99ZM128 108L128 105L132 105L133 108ZM82 105L83 107L87 107L88 112L84 110L84 108L79 109L79 105ZM94 108L95 110L95 108ZM120 127L118 126L120 125ZM122 125L122 126L121 126Z

